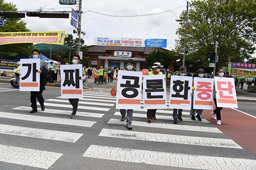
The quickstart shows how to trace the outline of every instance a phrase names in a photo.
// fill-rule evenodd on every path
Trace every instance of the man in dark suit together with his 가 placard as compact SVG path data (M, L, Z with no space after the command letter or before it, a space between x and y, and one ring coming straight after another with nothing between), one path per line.
M42 96L47 83L48 65L40 60L40 51L34 49L30 59L20 60L20 91L30 91L30 102L32 110L37 111L36 99L44 111L44 98Z

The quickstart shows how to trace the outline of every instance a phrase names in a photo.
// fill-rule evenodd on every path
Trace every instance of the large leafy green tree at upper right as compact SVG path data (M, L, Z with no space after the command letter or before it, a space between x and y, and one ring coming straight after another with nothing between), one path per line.
M219 61L224 66L231 57L233 62L250 58L256 47L256 1L255 0L193 0L190 2L188 20L188 54L206 60L206 54L214 51L218 42ZM176 20L179 39L176 50L183 53L186 12ZM196 60L196 59L195 59ZM187 62L187 61L186 61ZM201 63L202 64L202 63ZM203 63L207 66L208 63Z

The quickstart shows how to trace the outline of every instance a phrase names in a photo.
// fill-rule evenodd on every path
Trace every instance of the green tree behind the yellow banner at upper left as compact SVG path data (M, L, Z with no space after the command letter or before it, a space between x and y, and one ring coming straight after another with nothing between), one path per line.
M4 0L0 0L0 11L17 11L15 4L5 3ZM21 18L4 18L1 16L1 20L4 21L4 25L0 26L0 32L20 32L30 31L26 28L26 23ZM24 53L30 54L33 49L32 43L20 43L20 44L8 44L0 45L0 51L2 53L9 53L11 55Z

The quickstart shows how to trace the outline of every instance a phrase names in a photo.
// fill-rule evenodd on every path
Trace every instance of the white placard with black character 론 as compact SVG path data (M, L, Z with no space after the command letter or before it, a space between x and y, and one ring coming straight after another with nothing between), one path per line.
M144 76L144 109L167 109L165 75Z

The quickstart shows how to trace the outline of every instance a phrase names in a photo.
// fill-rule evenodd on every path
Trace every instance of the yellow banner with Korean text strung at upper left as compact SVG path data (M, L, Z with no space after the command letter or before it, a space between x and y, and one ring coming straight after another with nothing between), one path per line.
M65 31L0 32L0 45L16 43L45 43L64 45Z

